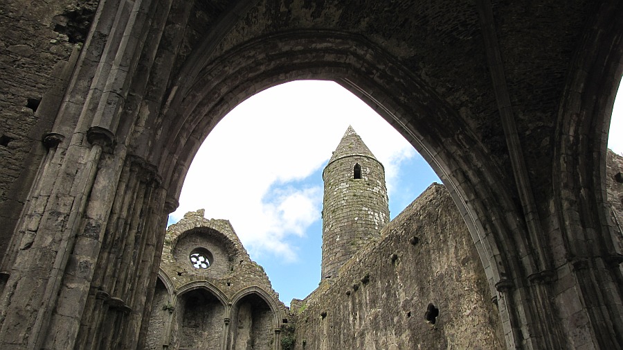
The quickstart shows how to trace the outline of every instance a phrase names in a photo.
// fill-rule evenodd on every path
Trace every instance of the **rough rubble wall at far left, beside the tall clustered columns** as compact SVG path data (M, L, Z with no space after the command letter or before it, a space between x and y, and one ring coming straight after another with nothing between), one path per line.
M45 154L57 108L98 1L2 1L0 8L0 254ZM73 62L75 63L75 62ZM25 166L26 165L26 166Z

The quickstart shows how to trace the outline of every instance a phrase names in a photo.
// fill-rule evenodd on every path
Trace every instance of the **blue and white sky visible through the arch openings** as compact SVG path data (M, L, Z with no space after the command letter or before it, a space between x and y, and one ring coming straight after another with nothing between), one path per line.
M320 282L322 171L348 125L386 170L390 217L439 178L368 105L335 82L305 80L240 103L197 152L169 224L188 211L230 220L280 300L303 299ZM608 147L623 154L623 98Z

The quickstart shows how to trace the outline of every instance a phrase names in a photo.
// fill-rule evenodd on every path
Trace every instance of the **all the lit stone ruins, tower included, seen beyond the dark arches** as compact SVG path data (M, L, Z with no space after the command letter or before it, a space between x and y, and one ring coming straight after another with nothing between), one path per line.
M623 157L609 152L608 164L621 222ZM230 222L189 212L165 236L145 350L505 349L495 293L443 185L375 221L389 216L383 166L350 127L323 179L316 290L286 308Z

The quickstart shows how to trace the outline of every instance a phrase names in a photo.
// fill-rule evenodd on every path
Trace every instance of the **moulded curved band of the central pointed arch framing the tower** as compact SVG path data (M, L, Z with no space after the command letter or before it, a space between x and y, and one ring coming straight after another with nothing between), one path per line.
M222 62L230 63L224 67ZM168 123L163 127L170 132L154 149L172 146L157 161L170 193L179 195L201 142L237 103L271 86L302 79L338 82L379 112L431 164L466 219L494 293L493 286L503 279L501 276L512 273L503 257L505 252L512 252L514 247L527 251L521 235L494 236L523 230L516 222L482 221L488 220L487 216L505 218L503 211L518 210L500 182L485 181L503 178L503 173L493 164L473 166L469 159L487 159L486 151L465 131L469 128L458 113L390 55L357 35L335 31L280 33L248 42L205 64L192 89L186 91L186 98L163 111L163 120ZM417 119L417 123L409 118ZM499 209L500 204L504 210Z

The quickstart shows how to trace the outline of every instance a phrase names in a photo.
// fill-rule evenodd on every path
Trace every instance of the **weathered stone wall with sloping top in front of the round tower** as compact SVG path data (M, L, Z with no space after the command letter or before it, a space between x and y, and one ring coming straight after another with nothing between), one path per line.
M505 347L478 253L444 186L431 185L381 235L293 304L294 349Z

